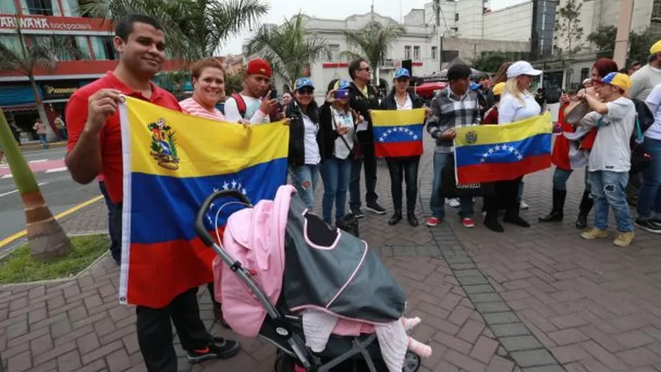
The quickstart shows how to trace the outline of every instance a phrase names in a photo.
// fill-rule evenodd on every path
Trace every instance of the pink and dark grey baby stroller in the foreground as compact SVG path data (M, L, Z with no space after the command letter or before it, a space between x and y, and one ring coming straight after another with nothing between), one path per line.
M276 200L281 193L295 194L293 187L283 186L278 190L278 195L276 195ZM218 199L222 199L219 201ZM282 198L280 198L282 199ZM270 201L269 201L270 203ZM228 218L228 223L226 225L225 237L223 237L223 242L214 240L214 237L209 233L209 228L205 226L204 221L209 221L209 207L212 205L221 205L221 208L218 209L216 213L212 213L216 216L218 221L218 215L223 212L223 209L227 212L228 209L234 209L234 213ZM321 219L317 218L310 213L306 213L304 204L299 199L299 197L292 197L290 202L285 202L285 205L281 205L278 209L276 201L273 204L266 204L260 202L257 206L252 206L249 203L249 200L245 195L237 192L235 190L221 190L214 192L214 194L209 195L209 197L204 200L202 206L197 212L195 218L195 230L200 239L207 246L214 249L216 254L218 254L219 259L214 262L214 273L217 267L216 265L221 265L223 267L222 278L223 285L222 287L222 299L223 299L223 314L226 318L226 321L230 326L241 335L252 335L254 333L257 337L271 342L278 348L278 354L276 357L276 372L299 372L299 371L319 371L319 372L340 372L340 371L369 371L369 372L381 372L388 371L383 361L381 349L378 344L377 336L375 333L371 334L361 334L359 336L340 336L340 335L331 335L326 343L325 349L322 352L313 352L311 348L306 346L306 339L304 335L304 326L303 326L303 316L301 316L301 311L297 309L302 309L304 306L301 306L303 303L310 302L311 299L319 297L319 301L322 301L321 297L325 294L315 292L318 289L318 285L306 285L305 280L302 280L306 275L313 275L314 278L311 278L311 281L322 281L325 279L323 275L314 275L320 270L323 271L324 264L328 263L328 260L336 259L336 257L330 256L329 252L323 249L297 249L301 244L314 244L310 242L310 238L306 235L305 231L307 230L321 230L321 239L328 237L329 239L335 239L335 243L340 244L339 242L342 239L357 239L356 237L350 236L350 234L341 234L342 238L340 239L340 233L338 230L331 229L323 223ZM236 210L237 205L245 206L250 210ZM226 248L228 247L228 241L231 242L231 239L235 238L241 240L242 242L247 242L247 240L257 239L261 242L264 242L263 237L256 236L259 235L259 229L254 229L249 223L233 223L233 217L239 216L242 212L254 213L254 221L263 221L265 213L276 213L276 211L284 213L285 225L282 225L283 220L278 222L277 218L273 218L273 225L276 226L276 231L282 228L284 240L283 240L283 257L276 257L269 261L269 270L277 272L278 264L282 264L288 267L287 271L283 270L281 278L271 278L264 280L264 276L259 272L259 269L254 267L259 267L259 263L247 262L248 259L240 261L240 259L235 259ZM245 213L244 213L245 214ZM350 221L351 218L349 218ZM237 218L238 221L238 218ZM269 220L270 221L270 220ZM235 221L236 222L236 221ZM280 223L280 225L278 225ZM352 223L349 223L352 225ZM357 233L357 226L356 228ZM216 226L213 226L211 231L216 230ZM243 235L241 234L243 232ZM329 233L335 235L328 235ZM333 238L332 236L335 236ZM219 235L217 235L219 237ZM272 239L276 239L271 235ZM317 238L315 238L317 239ZM316 241L316 240L315 240ZM307 243L306 243L307 242ZM223 245L226 244L226 245ZM247 244L247 243L246 243ZM340 245L334 245L333 247L339 247ZM366 244L365 244L366 247ZM255 248L257 249L257 248ZM275 249L273 249L275 251ZM335 249L338 250L338 249ZM314 252L313 252L314 251ZM311 252L311 253L310 253ZM315 256L316 255L316 256ZM375 275L378 274L381 268L383 268L380 261L376 263L373 260L374 255L365 249L365 254L361 263L364 261L369 267L361 268L361 272L357 273L358 268L354 271L352 278L356 277L356 280L366 283L370 286L375 292L369 293L370 295L365 295L364 293L358 294L355 291L360 288L354 288L354 285L345 284L342 287L342 295L340 292L335 294L333 297L333 306L330 302L328 303L327 308L333 311L341 311L342 314L352 314L352 311L357 309L357 311L364 310L366 307L376 307L383 305L378 303L378 300L374 301L373 298L378 296L378 292L387 292L390 297L389 299L394 299L395 302L399 301L399 298L403 298L403 292L400 294L397 290L400 290L399 287L395 285L395 291L389 290L392 288L392 283L388 283L388 278L379 278L376 275L373 278L368 278L365 275ZM351 257L349 258L351 259ZM326 261L324 261L326 260ZM376 259L378 260L378 258ZM329 263L330 264L330 263ZM385 268L383 268L385 270ZM362 276L363 275L363 276ZM239 281L239 285L230 285L229 280ZM390 278L392 279L392 278ZM226 280L228 280L226 282ZM280 280L280 284L274 284ZM309 284L309 282L307 282ZM342 282L343 283L343 282ZM384 284L385 283L385 284ZM329 285L332 288L333 283ZM218 288L218 282L216 282L216 287ZM280 292L280 287L288 287L288 290L282 290ZM249 289L249 294L237 294L242 295L242 300L245 301L246 297L252 295L254 302L260 305L260 309L263 310L263 314L253 314L254 312L246 311L245 309L233 309L233 307L239 306L230 306L230 301L233 298L233 293L230 292L231 288L239 288L239 290L247 288ZM225 292L225 291L228 292ZM352 290L354 292L352 292ZM388 292L390 291L390 292ZM328 292L328 290L326 291ZM352 297L353 296L353 297ZM359 302L357 306L348 306L349 300L345 297L352 297L352 301ZM336 299L337 298L337 299ZM377 304L370 304L370 302L377 302ZM404 302L400 309L384 309L379 313L374 311L376 314L376 320L386 320L388 317L397 318L401 316L401 311L404 309ZM344 307L344 309L338 310L339 307ZM383 306L386 307L385 305ZM393 314L388 314L390 311ZM234 323L232 319L235 319ZM253 323L259 321L259 324L254 325ZM421 361L418 355L412 352L406 352L404 357L404 366L402 371L404 372L416 372L420 367Z

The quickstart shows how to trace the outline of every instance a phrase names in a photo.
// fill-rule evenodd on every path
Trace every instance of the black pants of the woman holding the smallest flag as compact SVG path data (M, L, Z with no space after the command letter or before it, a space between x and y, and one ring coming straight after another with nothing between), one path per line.
M393 195L395 211L402 211L402 180L406 182L407 212L413 213L418 197L418 164L420 156L386 158L390 172L390 193Z

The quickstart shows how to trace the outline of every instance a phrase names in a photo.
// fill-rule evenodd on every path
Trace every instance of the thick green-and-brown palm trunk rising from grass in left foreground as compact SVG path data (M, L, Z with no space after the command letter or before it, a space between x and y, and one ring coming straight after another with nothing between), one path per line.
M11 129L0 109L0 147L4 149L7 163L13 175L14 183L23 199L25 211L25 229L30 253L36 259L50 259L68 254L71 241L51 213L42 192L39 190L35 175L27 166L23 153L11 135Z

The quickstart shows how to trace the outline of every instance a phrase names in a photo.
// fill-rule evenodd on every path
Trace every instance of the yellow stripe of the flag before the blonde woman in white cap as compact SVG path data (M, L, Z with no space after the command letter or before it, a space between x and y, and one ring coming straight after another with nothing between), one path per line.
M553 131L551 113L527 118L516 123L501 125L479 125L456 128L455 146L474 146L478 144L499 144L525 140L534 135L548 134Z

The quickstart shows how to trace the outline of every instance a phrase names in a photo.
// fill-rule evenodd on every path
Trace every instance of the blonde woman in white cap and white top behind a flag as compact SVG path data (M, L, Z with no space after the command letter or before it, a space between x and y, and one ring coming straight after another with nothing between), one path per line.
M532 116L538 116L541 108L535 97L530 92L530 83L534 76L542 73L535 70L526 61L517 61L507 68L507 82L505 91L500 98L498 107L498 124L514 123ZM530 224L519 216L519 185L523 177L514 180L503 180L495 182L496 195L484 198L484 225L497 233L505 229L498 222L498 209L505 204L505 218L503 221L513 223L523 228L529 228Z

